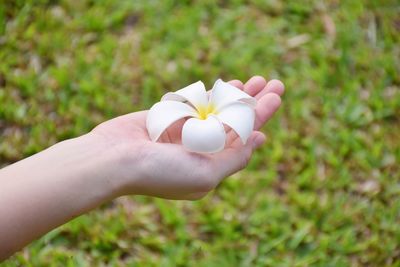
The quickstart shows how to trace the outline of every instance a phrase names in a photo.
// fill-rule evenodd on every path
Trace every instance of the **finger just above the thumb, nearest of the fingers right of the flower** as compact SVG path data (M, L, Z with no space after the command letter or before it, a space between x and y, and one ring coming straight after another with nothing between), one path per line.
M281 105L281 97L275 93L268 93L257 101L256 120L254 129L260 129L278 110Z

